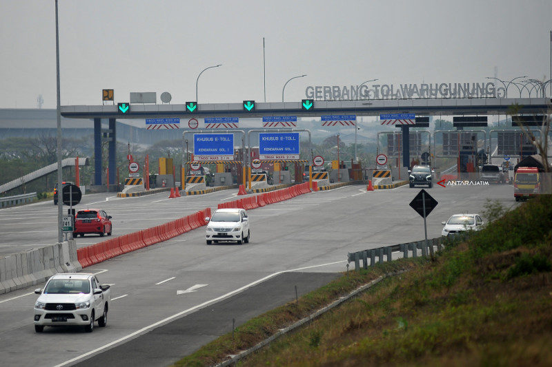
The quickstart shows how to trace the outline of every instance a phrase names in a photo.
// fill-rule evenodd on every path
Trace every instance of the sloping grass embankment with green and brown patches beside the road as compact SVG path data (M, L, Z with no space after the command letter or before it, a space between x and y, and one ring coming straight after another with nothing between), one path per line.
M352 271L250 320L175 366L210 366L395 269L239 366L552 366L552 197L506 213L433 259Z

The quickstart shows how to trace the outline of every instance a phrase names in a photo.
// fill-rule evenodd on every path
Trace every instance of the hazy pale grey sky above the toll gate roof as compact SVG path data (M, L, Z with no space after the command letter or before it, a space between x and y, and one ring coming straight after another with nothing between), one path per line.
M546 81L551 16L551 0L59 0L61 105L101 105L103 89L195 101L217 64L199 103L262 102L264 72L267 102L302 74L286 101L375 78ZM0 108L56 107L54 0L0 0L0 54Z

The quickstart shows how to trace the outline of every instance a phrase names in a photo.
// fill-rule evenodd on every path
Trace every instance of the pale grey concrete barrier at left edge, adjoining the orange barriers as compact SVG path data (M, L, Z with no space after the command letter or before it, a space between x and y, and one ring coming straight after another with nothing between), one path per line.
M77 273L81 270L75 240L2 256L0 293L46 282L56 273Z

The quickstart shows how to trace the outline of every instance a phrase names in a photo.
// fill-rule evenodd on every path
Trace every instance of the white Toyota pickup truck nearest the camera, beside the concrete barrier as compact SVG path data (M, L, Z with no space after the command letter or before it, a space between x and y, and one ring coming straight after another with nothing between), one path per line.
M110 286L100 285L96 275L88 273L56 274L46 282L34 304L34 331L44 326L84 326L91 333L94 322L106 326L111 302Z

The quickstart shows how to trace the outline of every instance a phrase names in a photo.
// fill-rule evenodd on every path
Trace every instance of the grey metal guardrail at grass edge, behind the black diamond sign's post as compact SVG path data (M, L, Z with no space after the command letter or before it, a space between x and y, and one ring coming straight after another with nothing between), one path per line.
M412 257L416 258L418 250L422 250L422 256L427 255L427 250L433 255L434 247L437 247L437 251L442 249L442 239L441 238L432 238L428 239L428 248L426 248L426 241L416 241L408 242L402 244L394 244L393 246L380 247L378 249L369 249L364 251L357 251L353 253L347 253L347 261L349 263L355 262L355 269L360 270L360 261L362 260L363 268L368 269L368 259L370 260L370 266L375 266L375 258L377 256L377 262L380 264L384 262L384 257L386 257L387 262L393 261L393 252L400 252L403 255L403 258L408 258L408 252L412 251Z

